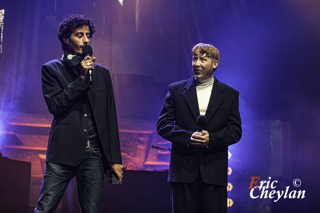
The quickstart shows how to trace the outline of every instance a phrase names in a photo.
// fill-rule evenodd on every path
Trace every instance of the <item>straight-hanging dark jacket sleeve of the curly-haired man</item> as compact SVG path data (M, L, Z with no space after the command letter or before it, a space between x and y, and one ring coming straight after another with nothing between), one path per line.
M106 84L108 88L108 126L109 126L109 140L111 147L111 164L122 164L120 140L118 131L118 122L116 118L115 102L112 81L109 71L106 71Z

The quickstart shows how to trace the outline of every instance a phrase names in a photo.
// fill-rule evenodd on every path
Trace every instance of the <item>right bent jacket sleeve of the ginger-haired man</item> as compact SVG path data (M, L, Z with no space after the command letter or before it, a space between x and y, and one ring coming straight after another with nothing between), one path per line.
M210 133L209 132L209 150L223 148L235 144L241 138L241 118L239 113L239 92L232 101L232 106L229 112L226 127Z

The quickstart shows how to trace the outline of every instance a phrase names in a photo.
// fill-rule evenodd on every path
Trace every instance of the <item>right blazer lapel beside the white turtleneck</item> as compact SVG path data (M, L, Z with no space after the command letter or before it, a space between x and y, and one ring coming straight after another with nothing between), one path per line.
M224 99L222 93L223 93L223 89L220 86L220 82L214 77L209 104L205 112L207 123L209 123L210 119L212 118L216 110L221 105Z

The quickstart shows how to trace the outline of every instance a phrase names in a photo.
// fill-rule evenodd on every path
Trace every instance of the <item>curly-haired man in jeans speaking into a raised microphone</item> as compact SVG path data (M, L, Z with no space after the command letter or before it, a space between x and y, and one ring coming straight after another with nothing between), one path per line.
M55 212L76 177L83 213L97 213L104 173L122 179L119 134L109 70L82 54L95 32L92 19L70 14L61 21L62 58L42 66L42 92L53 114L40 198L35 213ZM83 57L84 56L84 57ZM92 71L92 84L88 71Z

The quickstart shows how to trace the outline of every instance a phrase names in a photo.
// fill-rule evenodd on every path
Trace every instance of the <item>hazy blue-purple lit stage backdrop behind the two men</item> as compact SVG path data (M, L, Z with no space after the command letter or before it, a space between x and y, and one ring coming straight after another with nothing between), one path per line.
M269 155L253 140L264 131L256 123L277 120L290 127L285 181L299 178L306 198L281 200L273 209L317 207L319 1L124 0L121 6L117 0L10 0L0 9L1 113L48 114L41 65L61 57L56 28L69 13L86 14L96 24L91 46L96 62L110 69L119 119L156 121L167 85L192 75L192 46L210 43L220 51L214 75L240 92L243 136L229 149L241 160L234 167L243 185L240 199L249 200L251 176L270 176L261 166Z

